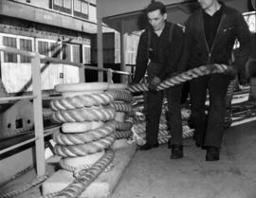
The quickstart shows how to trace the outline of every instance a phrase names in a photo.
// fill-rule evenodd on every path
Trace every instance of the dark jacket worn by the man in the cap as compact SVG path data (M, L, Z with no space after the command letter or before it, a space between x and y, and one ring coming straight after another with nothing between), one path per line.
M161 80L166 79L177 71L177 63L181 57L184 43L184 33L181 27L174 24L172 25L174 26L173 33L171 34L172 39L170 39L171 23L169 22L166 23L159 37L156 36L153 28L149 28L141 34L137 46L137 63L134 82L139 82L144 77L149 60L153 63L163 65L156 75Z

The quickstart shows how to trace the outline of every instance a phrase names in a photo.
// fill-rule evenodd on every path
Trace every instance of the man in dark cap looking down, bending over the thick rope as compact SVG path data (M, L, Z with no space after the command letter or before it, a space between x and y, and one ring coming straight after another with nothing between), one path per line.
M160 81L176 72L183 46L182 28L166 21L166 8L161 2L153 1L146 9L146 14L150 27L140 36L133 81L139 82L147 70L150 90L146 99L146 144L140 150L149 150L158 146L157 135L164 93L155 89ZM174 159L183 157L180 95L181 86L166 90L170 114L168 122L172 135L171 158Z

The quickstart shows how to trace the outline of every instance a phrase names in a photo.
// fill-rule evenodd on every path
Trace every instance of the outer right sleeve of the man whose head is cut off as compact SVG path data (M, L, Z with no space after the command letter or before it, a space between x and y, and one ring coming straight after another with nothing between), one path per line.
M237 71L244 73L245 65L250 55L251 51L251 34L247 27L247 22L244 19L242 14L237 14L236 17L236 36L239 41L240 47L238 48L238 52L235 56L235 61L233 66Z

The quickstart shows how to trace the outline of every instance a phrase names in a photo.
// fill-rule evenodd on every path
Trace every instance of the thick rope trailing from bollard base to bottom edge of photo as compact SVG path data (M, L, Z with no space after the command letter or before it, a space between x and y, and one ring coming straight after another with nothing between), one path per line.
M113 161L115 156L114 151L107 150L105 155L96 162L89 170L83 171L80 178L75 179L72 184L68 185L65 189L55 195L55 198L75 198L82 194L105 168ZM46 197L45 197L46 198Z

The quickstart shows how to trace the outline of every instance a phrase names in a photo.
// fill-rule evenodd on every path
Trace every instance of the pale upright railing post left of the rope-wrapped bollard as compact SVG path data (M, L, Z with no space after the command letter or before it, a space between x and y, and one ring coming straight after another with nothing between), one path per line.
M42 91L41 91L41 72L40 72L40 57L39 53L35 52L35 57L31 60L32 66L32 88L34 110L34 128L35 128L35 147L36 147L36 169L37 175L46 174L45 161L45 139L43 125L43 109L42 109Z

